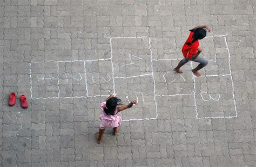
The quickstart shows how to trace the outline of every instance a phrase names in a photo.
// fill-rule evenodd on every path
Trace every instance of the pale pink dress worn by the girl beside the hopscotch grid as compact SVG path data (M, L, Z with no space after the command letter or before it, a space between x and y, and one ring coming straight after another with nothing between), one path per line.
M99 128L105 129L108 128L115 128L121 125L122 118L118 116L117 108L114 111L114 115L107 115L104 112L104 106L106 105L106 101L100 104L100 108L102 109L102 113L99 115L99 119L102 120Z

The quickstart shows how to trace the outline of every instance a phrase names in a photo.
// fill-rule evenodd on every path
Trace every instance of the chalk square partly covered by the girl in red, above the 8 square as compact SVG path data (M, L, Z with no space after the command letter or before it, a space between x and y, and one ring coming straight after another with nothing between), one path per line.
M201 75L230 75L230 55L225 36L206 37L200 40L200 47L203 52L199 56L208 60L207 66L200 70ZM197 66L197 62L192 62L193 68Z

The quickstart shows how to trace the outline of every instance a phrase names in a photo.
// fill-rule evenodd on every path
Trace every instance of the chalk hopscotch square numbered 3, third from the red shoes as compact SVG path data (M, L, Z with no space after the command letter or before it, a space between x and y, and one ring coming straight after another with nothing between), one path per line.
M113 92L112 62L85 62L87 96L110 95Z

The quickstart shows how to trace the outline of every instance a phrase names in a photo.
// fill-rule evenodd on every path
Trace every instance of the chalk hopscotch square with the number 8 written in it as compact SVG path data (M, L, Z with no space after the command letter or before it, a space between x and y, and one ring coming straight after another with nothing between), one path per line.
M237 117L230 76L195 77L198 118Z

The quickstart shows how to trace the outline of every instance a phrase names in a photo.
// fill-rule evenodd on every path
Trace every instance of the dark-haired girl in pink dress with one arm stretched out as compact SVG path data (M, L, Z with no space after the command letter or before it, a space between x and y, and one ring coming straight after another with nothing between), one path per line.
M113 128L114 135L117 135L119 126L121 125L121 121L122 121L122 118L118 116L118 112L132 107L133 104L137 104L137 101L132 100L131 103L128 105L118 107L118 105L122 105L121 100L118 99L117 97L114 97L114 95L110 95L106 99L106 101L100 104L102 113L99 115L99 119L102 120L102 122L99 126L99 132L96 133L98 144L100 144L102 140L102 136L105 132L106 127Z

